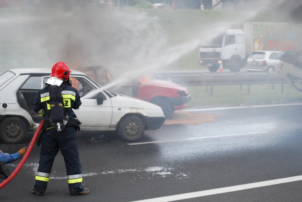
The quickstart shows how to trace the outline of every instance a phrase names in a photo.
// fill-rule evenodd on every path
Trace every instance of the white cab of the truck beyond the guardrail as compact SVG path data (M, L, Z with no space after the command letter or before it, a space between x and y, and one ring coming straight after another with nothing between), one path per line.
M199 64L216 72L220 65L232 72L239 71L246 57L245 37L242 30L227 30L199 48Z

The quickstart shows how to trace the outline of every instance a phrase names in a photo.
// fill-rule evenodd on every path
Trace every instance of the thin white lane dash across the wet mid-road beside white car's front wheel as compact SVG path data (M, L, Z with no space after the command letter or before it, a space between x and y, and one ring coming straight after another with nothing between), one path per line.
M153 144L153 143L164 143L164 142L181 142L181 141L196 140L196 139L208 139L208 138L215 138L215 137L230 137L230 136L238 136L238 135L255 135L255 134L263 134L263 133L268 133L268 132L267 131L246 132L246 133L237 133L237 134L229 134L229 135L215 135L215 136L205 136L205 137L190 137L190 138L178 139L178 140L136 142L136 143L129 143L128 145L141 145L141 144Z

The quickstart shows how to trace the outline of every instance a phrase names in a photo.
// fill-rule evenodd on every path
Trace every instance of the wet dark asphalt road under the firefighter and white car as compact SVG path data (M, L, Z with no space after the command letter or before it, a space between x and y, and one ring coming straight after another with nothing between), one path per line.
M163 125L145 132L138 145L113 133L79 132L78 144L85 196L70 196L59 152L44 196L30 193L39 159L35 146L18 175L0 190L1 201L301 201L302 181L269 186L258 182L302 175L302 105L222 109L216 121L196 125ZM1 144L2 151L27 146ZM157 141L157 142L154 142ZM148 144L146 144L146 142ZM153 143L150 143L153 142ZM8 163L13 170L20 160ZM0 180L4 178L0 176ZM244 186L256 183L256 188ZM243 190L234 190L235 185ZM231 187L226 193L213 189ZM237 186L238 187L238 186ZM192 197L192 192L210 195ZM212 190L212 191L211 191ZM185 194L174 197L172 195ZM203 192L202 192L203 193ZM216 194L218 193L218 194ZM154 200L156 197L170 200ZM184 197L183 200L180 197ZM172 200L171 200L172 199Z

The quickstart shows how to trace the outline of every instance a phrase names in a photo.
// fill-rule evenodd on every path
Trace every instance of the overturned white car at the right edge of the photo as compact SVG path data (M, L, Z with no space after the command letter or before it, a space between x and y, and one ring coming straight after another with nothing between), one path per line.
M281 55L279 73L292 88L302 92L302 51L295 55Z

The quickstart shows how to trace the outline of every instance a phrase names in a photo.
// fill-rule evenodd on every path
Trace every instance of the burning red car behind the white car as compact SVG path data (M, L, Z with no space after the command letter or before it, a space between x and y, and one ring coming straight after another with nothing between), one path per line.
M96 66L85 68L92 72L87 72L96 82L105 85L110 82L108 70ZM141 79L133 80L121 87L110 89L113 92L139 98L160 106L166 118L169 118L175 110L187 107L191 100L191 95L186 87L163 80Z

